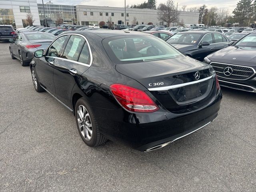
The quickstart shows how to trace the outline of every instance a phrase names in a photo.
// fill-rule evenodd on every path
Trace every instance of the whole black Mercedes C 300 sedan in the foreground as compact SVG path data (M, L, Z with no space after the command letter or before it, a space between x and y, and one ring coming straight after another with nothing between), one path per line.
M141 32L64 32L30 63L37 92L76 117L88 146L161 148L212 122L222 93L212 66ZM50 107L50 106L49 106Z

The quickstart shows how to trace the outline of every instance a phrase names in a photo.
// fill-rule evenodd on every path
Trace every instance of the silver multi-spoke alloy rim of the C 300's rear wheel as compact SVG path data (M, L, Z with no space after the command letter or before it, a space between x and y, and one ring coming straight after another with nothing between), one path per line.
M90 115L83 105L77 108L77 121L79 130L85 140L91 140L92 138L92 122Z

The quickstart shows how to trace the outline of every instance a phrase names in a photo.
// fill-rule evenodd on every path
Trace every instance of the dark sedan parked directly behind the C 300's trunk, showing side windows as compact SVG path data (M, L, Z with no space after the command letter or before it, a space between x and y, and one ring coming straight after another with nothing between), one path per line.
M183 54L203 61L208 54L227 47L231 41L219 32L187 31L173 35L166 42Z

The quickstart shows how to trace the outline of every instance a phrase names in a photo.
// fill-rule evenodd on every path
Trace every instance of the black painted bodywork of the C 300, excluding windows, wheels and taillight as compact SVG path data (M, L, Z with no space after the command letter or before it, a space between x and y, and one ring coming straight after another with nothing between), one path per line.
M91 50L90 63L62 58L70 36L86 38ZM112 30L64 32L55 40L64 39L60 58L47 56L46 50L46 56L34 58L30 67L34 67L42 87L69 110L74 112L77 99L84 97L97 114L96 122L106 138L140 151L153 150L158 145L173 142L214 120L222 93L212 67L182 54L174 59L117 64L105 45L108 45L109 38L133 36L156 38L144 33ZM72 69L76 69L77 73L70 73ZM200 74L197 80L196 72ZM149 85L156 81L164 85ZM144 91L159 106L159 110L152 113L131 112L122 107L110 90L110 85L116 83ZM180 96L176 92L182 89L179 88L182 84L192 86L194 91L190 92L191 95L198 94L200 88L200 92L204 92L200 94L203 98L196 97L198 101L193 98L190 103L181 101L179 104L174 97ZM162 90L169 85L178 88Z

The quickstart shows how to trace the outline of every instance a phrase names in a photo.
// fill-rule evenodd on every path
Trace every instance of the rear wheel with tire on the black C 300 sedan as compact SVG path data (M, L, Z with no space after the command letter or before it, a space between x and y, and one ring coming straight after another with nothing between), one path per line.
M96 147L107 141L100 133L94 114L84 98L76 102L75 117L78 132L86 145Z

